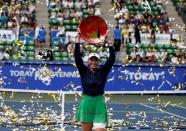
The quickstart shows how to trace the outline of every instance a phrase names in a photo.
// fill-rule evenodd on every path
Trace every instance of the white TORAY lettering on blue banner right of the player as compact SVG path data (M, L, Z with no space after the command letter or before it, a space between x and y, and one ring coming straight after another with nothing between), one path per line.
M125 75L129 76L130 80L159 80L160 76L164 75L164 71L162 72L151 72L151 73L147 73L147 72L130 72L128 70L125 71L121 71L121 73L124 73Z

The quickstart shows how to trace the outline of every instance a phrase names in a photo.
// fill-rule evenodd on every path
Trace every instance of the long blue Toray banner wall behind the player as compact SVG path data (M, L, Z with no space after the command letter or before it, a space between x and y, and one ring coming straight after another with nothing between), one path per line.
M186 90L186 65L114 65L106 91ZM81 91L74 64L4 63L1 64L1 89Z

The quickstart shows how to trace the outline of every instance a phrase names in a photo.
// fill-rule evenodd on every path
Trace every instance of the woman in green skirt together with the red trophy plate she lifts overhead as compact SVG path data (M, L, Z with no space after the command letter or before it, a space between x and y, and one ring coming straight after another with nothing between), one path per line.
M110 55L105 64L100 66L100 56L97 53L90 53L88 65L85 65L80 53L80 37L98 48L104 43L108 29L102 18L89 16L82 20L78 32L74 57L81 78L83 96L76 119L81 123L82 131L105 131L108 114L104 99L104 87L107 76L115 62L113 40L108 41Z

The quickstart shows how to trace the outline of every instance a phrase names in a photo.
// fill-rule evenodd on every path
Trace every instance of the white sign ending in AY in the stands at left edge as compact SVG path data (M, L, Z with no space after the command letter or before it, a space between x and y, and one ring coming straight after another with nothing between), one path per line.
M16 34L12 30L0 30L0 39L5 41L16 40Z

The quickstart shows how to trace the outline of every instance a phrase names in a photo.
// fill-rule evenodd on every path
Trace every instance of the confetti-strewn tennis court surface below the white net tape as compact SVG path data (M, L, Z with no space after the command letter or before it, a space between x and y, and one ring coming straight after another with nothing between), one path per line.
M0 130L80 131L74 116L80 95L2 93ZM107 130L186 130L186 95L107 95Z

